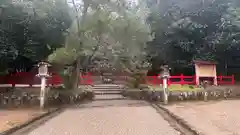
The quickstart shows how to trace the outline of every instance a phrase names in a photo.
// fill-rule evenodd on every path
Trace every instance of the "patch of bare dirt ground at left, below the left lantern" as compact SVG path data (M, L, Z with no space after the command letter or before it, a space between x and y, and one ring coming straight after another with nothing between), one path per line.
M23 124L46 112L39 109L0 110L0 133Z

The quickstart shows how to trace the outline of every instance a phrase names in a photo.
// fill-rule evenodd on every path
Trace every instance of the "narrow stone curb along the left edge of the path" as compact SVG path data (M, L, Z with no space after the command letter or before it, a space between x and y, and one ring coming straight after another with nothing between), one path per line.
M25 122L23 124L15 126L15 127L11 128L9 130L6 130L6 131L0 133L0 135L10 135L10 134L16 132L17 130L20 130L20 129L22 129L22 128L24 128L24 127L26 127L26 126L34 123L34 122L36 122L37 120L40 120L40 119L42 119L42 118L44 118L46 116L49 116L49 115L51 115L51 114L53 114L55 112L61 111L61 110L62 110L61 108L56 108L56 109L53 109L51 111L48 111L47 113L44 113L44 114L42 114L42 115L40 115L38 117L34 117L33 119L31 119L31 120L29 120L29 121L27 121L27 122Z

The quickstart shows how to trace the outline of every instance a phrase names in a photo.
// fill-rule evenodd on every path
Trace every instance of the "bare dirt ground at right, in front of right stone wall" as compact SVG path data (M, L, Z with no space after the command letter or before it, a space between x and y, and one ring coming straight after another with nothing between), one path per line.
M240 100L189 102L166 106L204 135L240 135Z

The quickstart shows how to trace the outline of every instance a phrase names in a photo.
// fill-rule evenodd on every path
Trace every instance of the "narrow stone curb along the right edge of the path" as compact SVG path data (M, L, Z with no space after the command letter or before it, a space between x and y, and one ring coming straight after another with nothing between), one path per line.
M171 111L169 111L168 109L166 109L165 107L163 107L162 105L159 104L154 104L157 107L159 107L160 109L162 109L163 111L165 111L169 116L171 116L172 118L174 118L177 122L179 122L179 124L183 125L185 128L187 128L188 130L190 130L191 132L193 132L196 135L203 135L202 133L198 132L193 126L191 126L190 124L188 124L187 121L185 121L184 119L180 118L179 116L175 115L174 113L172 113Z

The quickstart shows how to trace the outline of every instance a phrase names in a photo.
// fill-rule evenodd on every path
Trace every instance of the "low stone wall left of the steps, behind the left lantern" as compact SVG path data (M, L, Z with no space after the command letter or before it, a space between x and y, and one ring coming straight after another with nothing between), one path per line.
M46 98L47 106L60 106L64 104L79 103L84 99L91 100L94 94L90 91L71 93L71 92L52 92ZM40 105L39 92L24 92L11 90L0 93L0 108L19 108L35 107Z

